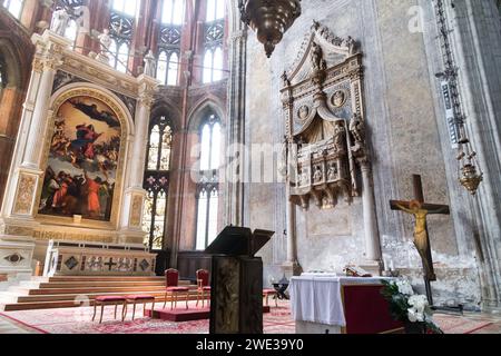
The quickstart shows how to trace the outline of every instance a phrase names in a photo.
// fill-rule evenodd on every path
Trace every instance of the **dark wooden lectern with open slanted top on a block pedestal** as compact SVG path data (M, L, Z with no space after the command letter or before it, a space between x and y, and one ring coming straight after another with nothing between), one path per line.
M213 256L210 334L263 334L263 260L254 257L275 233L226 227Z

